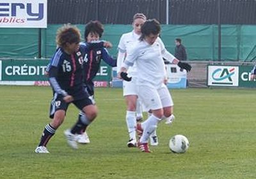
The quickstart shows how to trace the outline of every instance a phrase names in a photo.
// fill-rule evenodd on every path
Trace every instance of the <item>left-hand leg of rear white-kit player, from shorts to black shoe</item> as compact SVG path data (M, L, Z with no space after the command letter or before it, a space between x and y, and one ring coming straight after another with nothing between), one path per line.
M136 85L133 81L123 82L123 92L125 97L125 103L127 106L125 120L129 133L128 147L136 147L136 103L137 103L137 92Z

